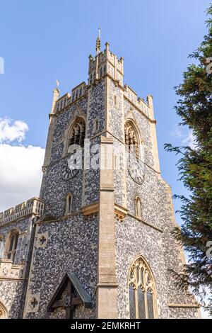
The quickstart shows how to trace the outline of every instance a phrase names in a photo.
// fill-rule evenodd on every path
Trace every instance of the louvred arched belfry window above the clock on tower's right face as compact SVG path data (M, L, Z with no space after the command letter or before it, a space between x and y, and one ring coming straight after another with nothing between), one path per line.
M139 138L131 121L126 121L124 126L125 145L131 154L139 159Z

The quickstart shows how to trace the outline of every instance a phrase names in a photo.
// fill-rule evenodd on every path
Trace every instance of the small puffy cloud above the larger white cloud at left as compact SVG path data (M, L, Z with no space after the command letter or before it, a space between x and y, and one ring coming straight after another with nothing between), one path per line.
M28 130L28 125L22 120L13 121L9 118L0 118L0 143L22 142Z

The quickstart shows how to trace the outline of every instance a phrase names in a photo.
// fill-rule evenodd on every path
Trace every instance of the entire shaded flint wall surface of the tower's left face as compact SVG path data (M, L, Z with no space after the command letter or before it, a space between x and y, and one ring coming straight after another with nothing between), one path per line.
M86 120L86 138L90 140L90 161L94 168L79 170L69 181L62 179L61 171L67 163L64 143L67 128L76 116ZM39 295L36 312L28 312L27 318L45 317L47 304L66 271L76 273L83 288L93 300L93 310L77 307L73 317L96 317L95 288L97 286L98 218L83 218L80 208L99 200L98 135L105 127L105 81L93 85L85 98L56 115L52 157L42 182L41 198L45 201L45 213L57 222L44 222L38 235L48 235L45 247L35 247L33 269L30 278L30 295ZM98 130L94 120L98 119ZM87 154L86 149L83 154ZM87 155L86 155L87 156ZM64 217L66 194L73 194L72 214ZM37 236L38 237L38 236ZM56 310L51 317L64 317L63 310Z

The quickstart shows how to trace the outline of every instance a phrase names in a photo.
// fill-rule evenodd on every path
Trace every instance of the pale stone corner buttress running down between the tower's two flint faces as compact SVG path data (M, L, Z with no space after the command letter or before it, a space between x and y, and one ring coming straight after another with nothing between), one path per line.
M105 163L105 149L111 147L112 143L113 137L101 137L101 164ZM108 191L108 189L110 189L110 191ZM118 317L117 287L113 169L100 169L97 285L98 318L112 319Z

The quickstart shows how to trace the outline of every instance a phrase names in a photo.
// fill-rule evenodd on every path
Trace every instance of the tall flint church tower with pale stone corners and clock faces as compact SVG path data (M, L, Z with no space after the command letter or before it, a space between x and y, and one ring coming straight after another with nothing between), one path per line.
M175 286L184 262L160 175L153 97L123 84L109 43L88 82L54 89L25 318L195 318Z

